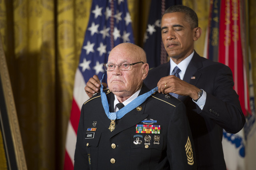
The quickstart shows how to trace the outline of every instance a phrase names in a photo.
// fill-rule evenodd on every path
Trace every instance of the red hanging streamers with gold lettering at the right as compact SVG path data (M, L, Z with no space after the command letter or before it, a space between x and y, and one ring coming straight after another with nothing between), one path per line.
M234 90L239 95L242 111L250 111L246 62L243 59L240 34L240 1L221 1L219 62L228 65L233 73Z

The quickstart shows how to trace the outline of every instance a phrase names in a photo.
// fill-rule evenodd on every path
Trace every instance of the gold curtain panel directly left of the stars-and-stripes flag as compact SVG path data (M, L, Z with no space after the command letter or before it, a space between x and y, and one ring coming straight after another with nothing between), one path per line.
M56 5L56 160L63 169L66 129L78 66L92 0L58 0ZM61 167L61 168L60 168ZM51 166L54 169L54 166Z

